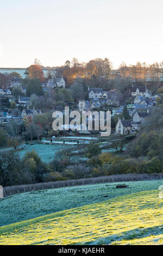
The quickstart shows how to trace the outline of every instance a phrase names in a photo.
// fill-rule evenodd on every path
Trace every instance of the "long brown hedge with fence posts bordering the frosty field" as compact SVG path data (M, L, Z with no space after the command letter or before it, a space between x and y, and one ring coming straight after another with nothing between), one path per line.
M143 181L143 180L161 180L163 173L152 174L115 174L110 176L100 176L95 178L86 178L78 180L62 180L42 182L36 184L17 185L3 187L4 197L12 196L12 194L32 192L34 190L48 190L52 188L72 187L81 185L92 185L111 182L125 182L125 181Z

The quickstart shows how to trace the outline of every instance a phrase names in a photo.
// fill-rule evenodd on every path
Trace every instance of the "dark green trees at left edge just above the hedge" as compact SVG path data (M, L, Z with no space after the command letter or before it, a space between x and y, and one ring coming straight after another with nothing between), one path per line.
M27 152L21 160L15 151L0 153L0 184L12 186L43 181L47 172L44 164L35 151Z

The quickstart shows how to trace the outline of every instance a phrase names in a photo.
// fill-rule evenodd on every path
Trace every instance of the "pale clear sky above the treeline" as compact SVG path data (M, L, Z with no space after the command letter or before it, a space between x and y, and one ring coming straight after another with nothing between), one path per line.
M0 0L0 67L163 60L162 0Z

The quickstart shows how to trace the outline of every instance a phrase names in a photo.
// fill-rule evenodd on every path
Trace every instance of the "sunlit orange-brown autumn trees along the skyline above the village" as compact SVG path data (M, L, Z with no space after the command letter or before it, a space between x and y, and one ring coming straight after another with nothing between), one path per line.
M163 62L151 65L140 62L137 62L136 65L127 65L122 62L118 70L112 70L112 64L108 58L96 58L87 63L80 63L77 58L73 58L71 62L67 60L65 65L56 67L55 70L57 77L64 76L66 87L72 86L73 88L73 83L76 85L78 83L80 95L83 95L83 89L80 86L82 84L84 92L87 86L101 87L107 91L117 89L118 92L128 97L133 81L141 80L143 84L145 83L145 78L152 78L149 86L153 92L158 89L161 84L159 78L163 76ZM43 92L39 82L46 83L48 78L52 78L51 71L48 72L47 77L44 76L41 63L37 59L35 59L34 64L30 65L24 74L26 78L22 80L22 85L26 86L28 84L28 96L33 93L38 96L42 95ZM20 75L16 72L0 74L0 86L7 87L12 77L20 77ZM77 99L75 98L76 96L74 95L74 100L76 101Z

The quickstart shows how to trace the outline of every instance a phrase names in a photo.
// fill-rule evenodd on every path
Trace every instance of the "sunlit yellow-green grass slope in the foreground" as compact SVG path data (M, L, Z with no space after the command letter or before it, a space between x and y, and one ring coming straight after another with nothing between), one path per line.
M163 245L158 193L142 191L6 225L0 228L0 244Z

